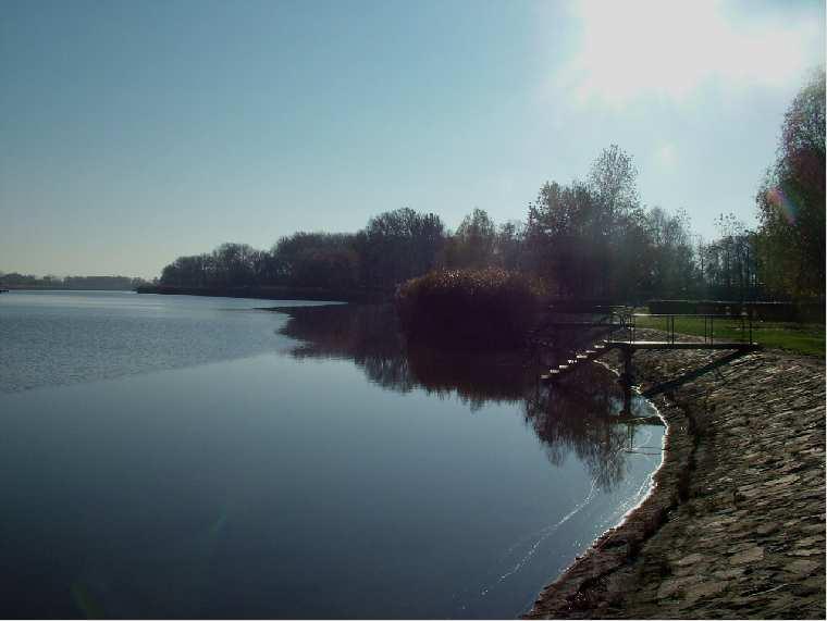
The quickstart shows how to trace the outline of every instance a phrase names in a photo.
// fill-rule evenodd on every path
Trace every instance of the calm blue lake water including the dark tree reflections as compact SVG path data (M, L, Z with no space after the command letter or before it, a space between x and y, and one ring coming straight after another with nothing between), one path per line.
M3 616L517 617L661 462L572 380L380 307L2 294Z

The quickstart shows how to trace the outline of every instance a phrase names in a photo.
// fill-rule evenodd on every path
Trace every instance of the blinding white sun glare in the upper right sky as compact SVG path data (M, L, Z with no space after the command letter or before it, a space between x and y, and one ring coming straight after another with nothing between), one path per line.
M812 64L806 50L816 46L815 24L779 27L726 9L717 1L582 0L576 8L580 46L558 86L581 102L624 105L640 96L684 100L711 80L730 88L781 86Z

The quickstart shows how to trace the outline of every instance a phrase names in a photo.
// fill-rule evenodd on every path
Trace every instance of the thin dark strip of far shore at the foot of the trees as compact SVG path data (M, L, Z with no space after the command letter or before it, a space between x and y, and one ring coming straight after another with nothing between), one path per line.
M143 285L138 294L166 296L209 296L217 298L255 298L264 300L316 300L333 302L381 302L391 298L386 291L330 289L325 287L175 287L172 285Z

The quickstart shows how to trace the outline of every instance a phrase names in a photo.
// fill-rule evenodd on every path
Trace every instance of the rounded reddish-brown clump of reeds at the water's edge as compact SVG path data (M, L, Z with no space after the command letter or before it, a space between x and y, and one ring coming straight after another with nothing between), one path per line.
M543 295L539 282L506 270L448 270L400 285L396 310L409 339L506 348L523 341Z

